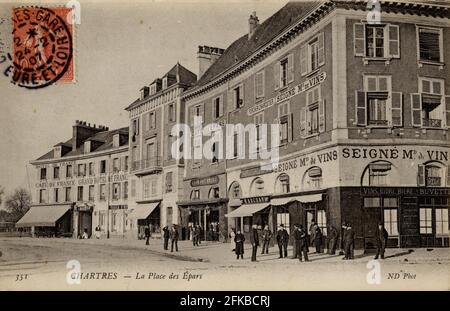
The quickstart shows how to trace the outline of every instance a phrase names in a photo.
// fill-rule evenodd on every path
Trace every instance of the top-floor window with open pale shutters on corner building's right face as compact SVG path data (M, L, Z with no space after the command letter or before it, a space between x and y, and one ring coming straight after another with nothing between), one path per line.
M353 44L355 56L369 59L400 58L399 26L355 23Z

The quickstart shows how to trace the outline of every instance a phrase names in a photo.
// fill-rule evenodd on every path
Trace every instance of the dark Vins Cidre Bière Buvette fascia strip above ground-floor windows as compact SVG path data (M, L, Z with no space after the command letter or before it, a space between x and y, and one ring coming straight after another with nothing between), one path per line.
M419 188L419 187L362 187L364 196L449 196L448 188Z

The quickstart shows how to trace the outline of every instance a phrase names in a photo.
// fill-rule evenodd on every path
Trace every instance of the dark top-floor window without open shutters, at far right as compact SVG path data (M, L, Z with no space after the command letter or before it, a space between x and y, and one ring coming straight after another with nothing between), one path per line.
M443 63L442 29L417 27L417 36L419 61Z

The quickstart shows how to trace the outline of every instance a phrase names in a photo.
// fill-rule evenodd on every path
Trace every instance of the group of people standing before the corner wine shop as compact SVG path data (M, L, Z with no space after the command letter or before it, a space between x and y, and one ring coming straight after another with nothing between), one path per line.
M309 233L309 234L308 234ZM309 232L305 230L303 225L295 224L294 230L291 233L293 244L293 256L292 259L299 259L299 261L310 261L308 258L309 246L315 247L316 253L320 254L324 252L324 236L321 228L313 220L309 228ZM238 230L237 232L233 228L229 234L231 241L231 249L236 254L237 259L244 258L244 234ZM285 226L281 224L276 233L276 242L279 250L279 258L288 257L288 244L290 235ZM338 244L339 231L332 225L327 226L327 254L335 255ZM269 253L269 245L272 239L272 232L269 226L266 225L263 230L260 230L257 225L252 226L250 232L250 243L252 245L251 261L257 261L256 255L258 247L260 246L260 240L262 241L261 254ZM383 226L383 223L379 223L376 230L376 246L377 254L375 259L381 256L384 259L385 248L388 240L388 232ZM343 260L354 259L355 249L355 231L350 223L344 223L342 225L342 249L344 257Z

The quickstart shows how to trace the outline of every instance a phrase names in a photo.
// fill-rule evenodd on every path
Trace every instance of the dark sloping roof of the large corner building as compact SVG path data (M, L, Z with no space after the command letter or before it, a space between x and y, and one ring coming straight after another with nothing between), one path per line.
M288 2L278 12L258 25L250 39L246 33L234 41L222 56L208 68L194 87L200 87L211 82L228 68L252 55L282 33L283 30L308 15L321 2L323 1Z

